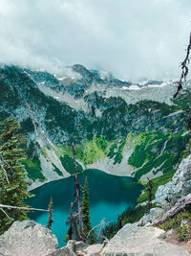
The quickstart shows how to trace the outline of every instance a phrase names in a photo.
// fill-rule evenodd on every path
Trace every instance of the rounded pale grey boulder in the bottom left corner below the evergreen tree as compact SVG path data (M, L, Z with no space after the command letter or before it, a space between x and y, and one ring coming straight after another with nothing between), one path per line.
M53 252L57 244L47 227L34 221L15 221L0 236L0 255L45 256Z

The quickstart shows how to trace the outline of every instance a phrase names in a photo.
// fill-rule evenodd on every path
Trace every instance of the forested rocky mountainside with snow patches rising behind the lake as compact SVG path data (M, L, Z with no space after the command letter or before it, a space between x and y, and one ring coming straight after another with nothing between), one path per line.
M18 120L23 160L35 188L95 168L114 175L169 181L189 146L190 81L176 100L175 81L120 81L76 64L62 74L0 68L0 120Z

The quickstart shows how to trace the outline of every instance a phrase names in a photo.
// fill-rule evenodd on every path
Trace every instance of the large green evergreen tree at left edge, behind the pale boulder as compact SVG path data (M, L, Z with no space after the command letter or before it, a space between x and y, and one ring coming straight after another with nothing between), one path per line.
M31 197L24 166L22 145L24 136L18 133L16 121L8 118L0 123L0 203L17 207L28 207L24 200ZM11 226L12 221L27 220L27 212L21 209L0 209L0 234Z

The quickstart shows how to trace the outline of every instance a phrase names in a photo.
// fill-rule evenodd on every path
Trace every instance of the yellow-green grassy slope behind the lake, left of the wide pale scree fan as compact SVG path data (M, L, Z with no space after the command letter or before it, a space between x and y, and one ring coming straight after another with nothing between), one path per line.
M129 136L131 137L131 136ZM86 168L87 165L93 164L97 159L104 160L106 156L110 159L114 159L114 164L120 163L122 160L122 151L124 146L127 143L127 138L119 139L118 141L109 142L102 135L99 137L94 136L93 140L85 140L83 144L75 146L75 157L76 157L76 165L78 173L83 172L83 167ZM115 151L113 150L115 146ZM51 150L49 146L47 146L48 150ZM42 153L46 156L45 149L42 149ZM55 151L56 155L60 159L65 170L71 175L74 174L74 162L73 162L73 152L72 149L66 146L59 146ZM48 158L49 159L49 158ZM50 159L49 159L50 160ZM32 160L31 160L32 162ZM32 162L35 165L35 161ZM61 172L57 170L55 166L54 172L58 175L61 175ZM33 177L38 178L38 175Z

